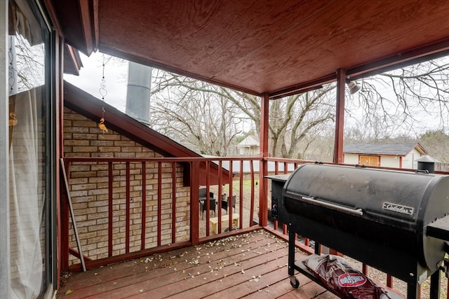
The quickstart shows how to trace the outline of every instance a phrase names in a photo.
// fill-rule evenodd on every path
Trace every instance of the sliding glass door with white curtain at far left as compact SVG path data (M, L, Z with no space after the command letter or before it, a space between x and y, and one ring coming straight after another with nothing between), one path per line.
M8 169L11 298L51 284L51 34L34 1L8 1Z

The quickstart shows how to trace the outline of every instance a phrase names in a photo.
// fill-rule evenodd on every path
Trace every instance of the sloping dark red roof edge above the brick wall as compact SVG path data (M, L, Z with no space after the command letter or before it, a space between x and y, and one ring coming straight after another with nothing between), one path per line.
M142 144L142 146L151 148L165 157L202 158L198 153L152 130L147 125L127 116L125 113L67 81L64 81L64 106L95 122L98 122L100 118L105 118L106 127ZM206 169L204 169L204 166L202 167L200 183L204 185L206 184ZM210 184L214 185L218 181L217 166L211 164L210 167L215 169L215 172L210 172ZM223 170L222 183L227 183L228 179L229 172Z

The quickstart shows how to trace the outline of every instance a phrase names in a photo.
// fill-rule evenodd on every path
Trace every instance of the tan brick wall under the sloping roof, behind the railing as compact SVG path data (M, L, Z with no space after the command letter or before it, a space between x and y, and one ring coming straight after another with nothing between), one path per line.
M159 153L112 130L105 134L98 124L67 108L64 110L65 157L159 158ZM145 248L157 246L158 166L147 162ZM69 188L83 254L92 259L108 253L108 165L72 163ZM189 188L182 187L182 166L176 166L176 242L189 239ZM172 165L162 163L161 243L172 241ZM126 163L113 164L113 256L125 253L126 200L130 201L130 252L139 251L142 228L142 164L130 163L130 198L126 198ZM70 244L76 249L73 229ZM71 257L72 260L78 260Z

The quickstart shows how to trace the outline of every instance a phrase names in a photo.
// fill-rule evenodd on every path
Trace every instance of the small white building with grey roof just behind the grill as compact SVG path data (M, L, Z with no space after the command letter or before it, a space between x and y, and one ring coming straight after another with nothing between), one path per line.
M417 169L417 159L427 151L419 142L348 144L344 163L366 166Z

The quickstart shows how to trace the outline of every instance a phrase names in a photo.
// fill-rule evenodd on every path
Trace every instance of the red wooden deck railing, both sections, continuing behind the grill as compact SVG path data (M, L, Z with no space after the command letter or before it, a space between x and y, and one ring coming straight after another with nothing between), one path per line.
M85 172L90 172L92 165L98 165L99 169L103 169L101 165L107 165L107 170L103 170L102 175L107 177L107 183L103 183L102 188L107 188L107 256L101 258L92 259L88 256L88 251L83 250L86 254L86 267L98 267L100 265L106 265L108 263L114 263L119 260L125 260L129 258L139 258L143 256L148 256L152 253L158 253L161 251L169 251L177 248L182 248L185 246L192 246L194 244L199 244L201 242L207 242L213 239L220 239L224 236L235 235L241 232L246 232L248 230L254 230L261 227L261 224L265 222L267 225L263 225L263 228L273 232L275 235L288 240L288 228L285 223L279 223L278 221L268 221L267 222L267 210L257 212L258 207L268 207L270 204L268 201L271 199L269 193L269 186L271 182L267 179L260 181L260 176L258 176L258 169L262 169L259 163L269 164L266 167L269 170L269 174L288 174L293 172L299 165L311 162L307 160L292 160L292 159L281 159L281 158L65 158L65 167L67 174L69 174L69 185L72 186L70 174L76 174L72 179L76 179L76 176L81 175L83 172L82 165L89 165L88 170ZM124 169L115 169L115 165L125 164ZM332 163L329 163L332 164ZM139 166L136 166L139 165ZM156 165L155 167L149 165ZM259 166L258 169L255 165ZM189 169L187 176L184 176L184 180L180 180L179 168L184 167ZM121 168L121 167L119 167ZM74 171L72 171L74 169ZM164 170L165 169L165 170ZM170 171L168 171L170 169ZM178 170L177 170L178 169ZM203 172L201 172L203 169ZM404 169L401 169L404 170ZM153 179L149 179L148 174L151 174ZM229 195L229 199L232 199L233 195L236 195L238 200L236 201L236 212L239 214L239 227L234 228L232 217L229 217L226 223L222 221L217 222L217 233L213 233L210 230L210 216L209 208L210 202L206 200L206 211L205 219L201 219L201 211L199 210L199 187L200 187L200 174L206 174L205 186L207 188L206 194L209 192L214 193L214 198L217 198L217 209L215 215L219 220L225 216L222 212L222 202L221 195L226 190ZM446 173L447 174L447 173ZM134 176L134 179L131 179ZM135 179L136 176L141 176L141 179ZM121 180L117 179L120 178ZM186 179L189 178L189 179ZM156 200L152 200L147 196L147 192L142 192L140 209L136 212L136 207L132 207L132 203L128 200L132 195L131 183L140 181L141 190L147 190L148 182L152 181L152 186L156 186L156 193L152 197L156 197ZM187 183L187 187L184 184ZM118 193L123 193L124 185L124 200L125 204L125 216L124 216L124 250L123 253L114 253L114 209L117 206L116 202L121 198L118 197ZM106 187L107 186L107 187ZM169 188L164 188L170 186ZM136 186L134 185L133 188ZM72 188L72 187L71 187ZM171 190L167 192L167 189ZM267 197L260 196L260 188L266 188L268 190ZM120 190L119 190L120 189ZM119 191L116 191L119 190ZM79 191L79 190L78 190ZM182 221L178 221L178 216L182 216L180 210L182 209L179 199L185 197L183 193L189 194L189 213L188 218L185 219L185 223L189 225L189 236L182 239L177 236L178 228L180 228ZM217 193L217 197L215 197ZM165 208L164 205L167 203L167 198L170 200L170 207ZM155 201L156 210L147 211L146 208L149 201ZM234 207L232 204L228 204L229 211L227 214L232 215ZM62 203L63 215L68 215L67 205ZM166 212L170 211L170 225L163 221L166 216ZM75 211L76 214L76 211ZM138 225L139 230L139 249L131 250L130 244L135 244L135 214L140 217L141 225ZM75 215L76 216L76 215ZM152 221L155 219L155 225L153 227L148 227L144 225L147 223L149 217ZM181 217L182 218L182 217ZM67 228L62 232L63 236L66 236L63 242L69 244L69 217L62 219L62 221L67 221L66 225L62 225L62 228ZM229 228L229 231L225 232L223 229L223 224ZM163 231L167 231L167 225L170 230L170 238L167 239L166 235L163 235ZM185 225L185 224L184 224ZM131 229L133 227L133 229ZM122 228L119 228L119 230ZM147 235L154 235L154 230L156 233L156 242L154 244L146 244L145 240ZM82 235L82 234L81 234ZM297 236L296 245L302 251L307 253L313 253L314 250L310 247L310 240L307 238L300 238ZM62 248L67 249L63 258L65 258L65 263L62 265L69 265L69 254L73 256L79 256L76 250L69 248L69 246L62 246ZM135 246L133 246L135 248ZM80 265L74 260L72 269L76 270L80 268ZM363 272L368 272L368 265L363 265ZM64 269L63 269L64 270ZM67 270L67 269L65 269ZM382 282L382 281L380 281ZM393 278L387 275L387 281L383 282L390 288L394 288ZM449 297L446 297L449 298Z

